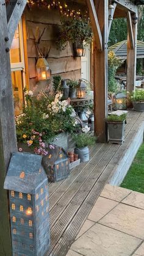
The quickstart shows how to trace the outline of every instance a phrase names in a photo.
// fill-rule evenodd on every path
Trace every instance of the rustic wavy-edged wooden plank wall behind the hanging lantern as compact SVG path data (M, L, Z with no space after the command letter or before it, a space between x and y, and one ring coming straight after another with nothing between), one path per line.
M37 73L35 70L37 50L35 48L35 33L39 27L40 33L46 27L41 38L40 49L42 53L48 51L48 63L51 68L52 76L59 74L62 78L78 79L81 78L81 58L73 57L70 43L63 51L57 49L55 40L57 38L57 25L60 24L62 16L58 10L45 10L35 8L25 10L26 33L27 33L27 57L29 64L30 89L36 91L45 89L48 82L37 83ZM51 79L52 80L52 79Z

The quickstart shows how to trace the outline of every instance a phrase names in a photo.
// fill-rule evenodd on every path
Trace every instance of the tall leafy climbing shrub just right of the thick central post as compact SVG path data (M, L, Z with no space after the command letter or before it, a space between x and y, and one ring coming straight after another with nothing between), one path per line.
M121 65L121 60L113 51L109 51L108 53L108 92L116 92L117 91L117 81L115 80L115 73L117 68Z

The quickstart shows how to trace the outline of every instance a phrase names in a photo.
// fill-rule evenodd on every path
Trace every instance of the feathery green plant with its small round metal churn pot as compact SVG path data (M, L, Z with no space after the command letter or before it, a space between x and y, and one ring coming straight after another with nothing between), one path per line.
M93 137L91 134L87 133L89 130L90 128L85 126L85 128L82 128L82 133L73 135L73 140L76 143L74 153L77 154L78 158L81 159L81 163L89 161L90 156L88 146L94 145L96 142L96 137Z

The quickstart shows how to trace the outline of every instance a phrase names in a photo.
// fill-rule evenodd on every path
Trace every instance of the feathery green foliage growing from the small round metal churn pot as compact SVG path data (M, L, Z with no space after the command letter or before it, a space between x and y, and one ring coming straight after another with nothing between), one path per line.
M82 148L94 145L96 142L96 137L93 137L88 133L79 133L73 135L73 140L76 142L77 148Z

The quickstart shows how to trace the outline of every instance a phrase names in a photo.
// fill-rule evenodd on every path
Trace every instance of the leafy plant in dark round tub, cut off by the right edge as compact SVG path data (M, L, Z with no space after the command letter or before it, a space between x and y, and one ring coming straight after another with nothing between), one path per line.
M144 90L135 90L132 92L131 101L135 111L144 111Z

